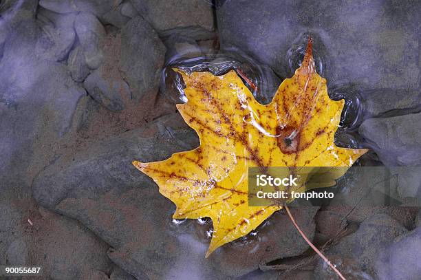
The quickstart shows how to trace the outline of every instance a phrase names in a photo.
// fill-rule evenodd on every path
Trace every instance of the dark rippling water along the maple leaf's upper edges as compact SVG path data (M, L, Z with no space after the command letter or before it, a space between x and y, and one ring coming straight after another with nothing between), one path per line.
M288 72L290 76L294 74L295 69L303 61L308 36L314 36L314 34L301 34L288 50ZM321 76L324 76L326 67L323 52L319 52L319 50L314 48L313 54L316 71ZM185 85L182 77L174 72L173 68L182 69L187 73L211 72L217 76L226 74L230 70L235 70L256 100L261 104L270 103L282 81L281 78L270 72L266 65L262 65L246 53L235 48L222 50L218 54L204 54L193 58L189 57L188 53L185 53L184 56L168 58L162 70L160 90L173 103L187 102L183 91ZM362 145L356 134L364 116L364 104L360 93L346 85L331 88L329 81L327 81L327 87L330 98L333 100L345 99L340 127L338 127L336 133L336 144L339 147L361 148Z

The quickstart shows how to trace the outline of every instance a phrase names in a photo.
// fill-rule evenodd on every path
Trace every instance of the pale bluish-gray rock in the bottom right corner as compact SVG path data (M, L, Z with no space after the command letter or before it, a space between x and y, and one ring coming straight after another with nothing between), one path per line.
M421 275L421 228L401 235L380 254L378 279L416 280Z

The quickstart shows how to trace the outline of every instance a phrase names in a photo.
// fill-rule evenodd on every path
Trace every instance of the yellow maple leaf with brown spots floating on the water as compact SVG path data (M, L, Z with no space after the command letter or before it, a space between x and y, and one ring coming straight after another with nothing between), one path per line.
M250 166L351 166L365 149L336 147L344 100L327 95L316 73L311 42L292 78L261 105L234 71L182 74L188 102L177 105L200 146L168 160L133 164L175 203L175 219L210 217L216 248L257 228L281 205L248 205ZM301 189L305 191L305 189Z

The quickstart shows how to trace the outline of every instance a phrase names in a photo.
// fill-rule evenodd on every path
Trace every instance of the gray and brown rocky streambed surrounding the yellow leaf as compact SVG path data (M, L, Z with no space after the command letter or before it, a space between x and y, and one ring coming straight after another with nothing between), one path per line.
M243 69L270 100L310 35L330 94L350 100L338 143L368 147L362 165L420 165L420 12L416 1L0 1L0 265L42 266L40 279L334 279L281 211L204 259L210 221L171 219L131 161L199 143L175 109L171 66ZM376 182L355 180L347 204L338 195L294 217L347 279L419 279L420 175L406 176L390 179L399 206L367 206Z

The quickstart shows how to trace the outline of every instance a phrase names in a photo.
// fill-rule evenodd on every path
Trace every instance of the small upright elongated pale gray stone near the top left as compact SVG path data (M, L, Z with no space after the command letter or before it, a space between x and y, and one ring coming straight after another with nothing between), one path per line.
M81 12L74 21L74 28L82 45L86 64L91 69L97 69L104 61L101 50L105 37L104 27L94 14Z

